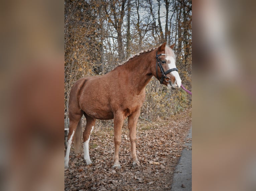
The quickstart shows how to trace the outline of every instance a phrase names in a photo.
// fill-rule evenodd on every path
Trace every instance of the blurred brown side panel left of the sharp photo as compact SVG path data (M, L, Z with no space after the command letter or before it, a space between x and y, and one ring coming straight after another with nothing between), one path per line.
M63 190L63 2L0 7L0 190Z

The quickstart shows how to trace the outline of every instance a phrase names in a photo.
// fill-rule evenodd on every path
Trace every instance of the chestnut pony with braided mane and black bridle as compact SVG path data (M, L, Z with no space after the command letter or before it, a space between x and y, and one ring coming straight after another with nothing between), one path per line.
M86 117L84 138L84 159L91 164L89 141L96 119L114 119L114 165L119 163L119 146L121 128L128 117L129 138L133 166L139 165L136 155L136 125L140 108L145 100L145 87L154 76L169 89L177 89L181 85L178 70L175 66L175 55L172 46L163 43L160 47L141 52L131 57L124 64L102 76L85 77L72 87L69 99L69 135L65 168L69 167L70 147L74 139L79 120Z

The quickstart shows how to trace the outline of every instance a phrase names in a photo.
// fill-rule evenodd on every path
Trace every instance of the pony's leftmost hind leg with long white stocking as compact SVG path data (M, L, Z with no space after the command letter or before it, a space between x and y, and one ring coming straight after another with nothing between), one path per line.
M74 140L74 134L77 128L77 125L83 116L83 111L81 109L77 109L77 112L72 112L72 110L69 111L69 134L68 134L68 142L67 142L67 152L65 156L65 168L69 168L69 154L70 154L70 148L71 144ZM81 140L80 140L81 141Z

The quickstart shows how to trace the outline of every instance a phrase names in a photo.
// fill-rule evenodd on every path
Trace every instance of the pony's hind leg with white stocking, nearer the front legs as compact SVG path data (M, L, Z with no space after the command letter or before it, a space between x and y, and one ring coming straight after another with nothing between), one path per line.
M88 116L87 114L85 114L86 117L86 127L83 133L83 137L84 137L84 154L85 154L85 161L86 164L92 164L92 161L90 159L90 155L89 155L89 141L90 141L90 136L91 133L93 131L94 125L95 125L95 119Z

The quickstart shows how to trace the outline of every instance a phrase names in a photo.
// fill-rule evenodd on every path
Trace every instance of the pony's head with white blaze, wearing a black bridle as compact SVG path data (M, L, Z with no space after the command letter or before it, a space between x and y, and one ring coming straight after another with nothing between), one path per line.
M178 89L181 86L181 80L176 69L175 55L172 51L172 46L163 43L156 49L156 64L154 66L154 75L161 84L171 89ZM154 73L153 73L154 74Z

